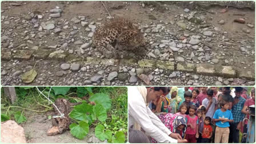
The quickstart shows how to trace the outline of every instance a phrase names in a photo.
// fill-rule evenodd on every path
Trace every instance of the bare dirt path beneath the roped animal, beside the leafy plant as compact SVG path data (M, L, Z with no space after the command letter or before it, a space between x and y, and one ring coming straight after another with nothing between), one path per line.
M65 133L47 136L46 131L51 128L51 121L46 114L31 114L27 121L22 123L25 130L27 142L29 143L104 143L94 136L94 129L89 130L89 134L82 140L71 135L70 131Z

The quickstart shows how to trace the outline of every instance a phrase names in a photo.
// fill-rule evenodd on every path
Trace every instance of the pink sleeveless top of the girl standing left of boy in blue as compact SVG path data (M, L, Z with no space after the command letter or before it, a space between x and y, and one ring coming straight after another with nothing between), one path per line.
M191 118L190 115L186 115L187 119L187 131L186 134L196 134L197 133L197 123L198 123L198 117L195 115L194 118ZM193 127L189 126L192 125Z

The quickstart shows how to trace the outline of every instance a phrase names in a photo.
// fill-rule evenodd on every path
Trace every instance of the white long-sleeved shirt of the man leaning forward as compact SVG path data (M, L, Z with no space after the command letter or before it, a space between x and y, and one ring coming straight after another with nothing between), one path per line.
M155 115L139 93L137 87L128 87L129 127L138 123L150 137L161 143L178 143L177 139L169 137L171 131Z

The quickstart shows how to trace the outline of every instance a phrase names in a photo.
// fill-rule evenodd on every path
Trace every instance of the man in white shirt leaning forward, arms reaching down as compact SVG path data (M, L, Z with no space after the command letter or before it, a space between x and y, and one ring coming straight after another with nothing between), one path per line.
M133 125L134 129L140 130L141 126L157 142L185 143L187 141L181 135L171 133L147 106L147 103L161 97L166 91L166 87L128 87L129 127Z

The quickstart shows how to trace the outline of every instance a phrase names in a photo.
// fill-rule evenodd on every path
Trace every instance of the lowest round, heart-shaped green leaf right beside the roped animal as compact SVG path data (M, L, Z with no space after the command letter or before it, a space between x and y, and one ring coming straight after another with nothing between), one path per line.
M83 139L89 132L89 125L83 121L79 122L79 125L72 123L69 128L70 133L78 139Z

